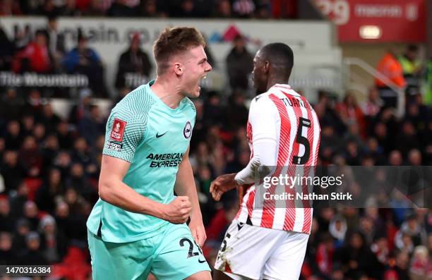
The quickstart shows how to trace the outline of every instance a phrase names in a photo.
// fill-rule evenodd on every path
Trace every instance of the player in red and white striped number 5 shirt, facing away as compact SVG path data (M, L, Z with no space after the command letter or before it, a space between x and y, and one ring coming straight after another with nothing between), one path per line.
M289 183L263 187L263 175L313 176L320 125L311 104L287 85L294 63L286 44L267 44L253 59L257 96L251 102L247 137L251 160L237 174L219 176L210 191L215 200L237 188L241 207L225 233L215 263L215 280L299 279L311 231L308 200L265 200L264 193L308 192ZM256 172L260 171L260 183ZM268 197L268 195L266 196Z

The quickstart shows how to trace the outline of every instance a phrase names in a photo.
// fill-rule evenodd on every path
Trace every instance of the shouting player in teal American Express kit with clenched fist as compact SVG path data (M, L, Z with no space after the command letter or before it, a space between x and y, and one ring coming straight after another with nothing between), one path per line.
M196 116L188 97L200 95L198 84L212 68L204 46L195 28L164 30L153 47L156 81L112 109L100 200L87 222L95 280L146 279L150 272L159 280L211 279L188 160Z

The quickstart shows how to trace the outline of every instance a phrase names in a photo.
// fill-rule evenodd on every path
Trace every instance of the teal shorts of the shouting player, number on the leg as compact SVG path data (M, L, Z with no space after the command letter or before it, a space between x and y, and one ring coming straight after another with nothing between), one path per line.
M210 271L186 224L169 224L157 236L128 243L102 241L88 231L93 280L185 279Z

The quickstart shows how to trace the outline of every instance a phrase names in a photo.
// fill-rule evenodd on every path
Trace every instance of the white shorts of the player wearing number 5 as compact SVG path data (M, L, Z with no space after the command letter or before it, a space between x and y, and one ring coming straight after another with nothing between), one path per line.
M308 234L232 221L217 253L215 269L234 280L298 280Z

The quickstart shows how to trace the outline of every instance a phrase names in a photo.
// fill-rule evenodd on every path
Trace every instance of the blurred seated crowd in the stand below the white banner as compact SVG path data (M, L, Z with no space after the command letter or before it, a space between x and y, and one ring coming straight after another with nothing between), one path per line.
M89 92L81 92L66 119L54 113L37 89L26 96L15 89L1 92L1 264L49 263L58 264L61 275L71 269L88 273L85 221L98 197L106 121ZM418 95L407 104L404 118L397 119L377 96L371 89L369 99L357 104L353 95L338 102L320 94L313 105L322 131L320 164L432 164L431 107ZM209 186L216 176L247 164L248 109L239 90L228 102L217 92L203 92L194 103L191 163L208 230L204 250L211 263L237 205L235 193L215 203ZM329 208L315 212L302 275L427 279L432 276L431 253L431 209Z

